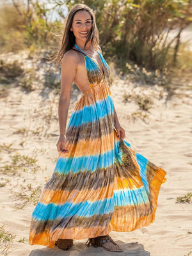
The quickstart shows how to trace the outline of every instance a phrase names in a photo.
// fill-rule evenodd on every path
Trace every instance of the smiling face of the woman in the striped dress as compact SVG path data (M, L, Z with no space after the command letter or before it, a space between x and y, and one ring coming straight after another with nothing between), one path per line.
M86 41L89 31L92 29L92 17L90 13L86 11L78 11L74 15L72 27L70 31L73 31L76 39Z

